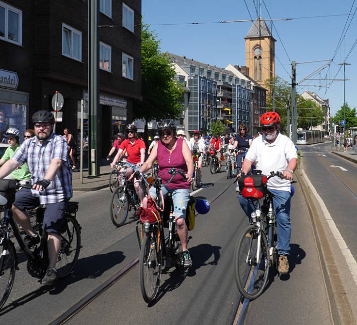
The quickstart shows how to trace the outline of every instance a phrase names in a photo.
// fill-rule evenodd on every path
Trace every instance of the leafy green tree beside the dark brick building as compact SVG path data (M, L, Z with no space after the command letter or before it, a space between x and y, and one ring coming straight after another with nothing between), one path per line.
M160 50L161 41L150 25L142 23L141 30L141 91L142 102L134 102L134 119L144 119L145 137L147 123L165 118L176 119L182 115L184 90L175 80L176 72L167 54Z

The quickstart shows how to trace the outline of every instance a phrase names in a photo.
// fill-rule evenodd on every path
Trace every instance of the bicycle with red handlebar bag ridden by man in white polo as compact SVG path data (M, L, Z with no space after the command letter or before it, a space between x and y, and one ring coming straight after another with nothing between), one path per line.
M248 300L256 299L262 294L268 280L270 266L274 265L277 269L276 218L273 197L266 183L274 176L283 178L281 172L274 171L271 171L268 177L261 175L260 170L254 170L253 175L260 175L260 180L258 182L253 180L251 175L246 177L250 183L257 182L255 187L240 185L240 190L243 197L247 196L248 200L254 203L255 212L251 215L252 223L243 229L234 250L234 273L237 287L243 297ZM242 189L241 186L244 188ZM261 198L264 198L262 205L259 202Z

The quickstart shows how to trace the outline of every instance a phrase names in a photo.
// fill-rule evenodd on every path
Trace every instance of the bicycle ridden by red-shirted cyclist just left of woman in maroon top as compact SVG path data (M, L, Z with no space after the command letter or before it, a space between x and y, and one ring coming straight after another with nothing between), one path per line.
M126 175L126 168L124 175ZM143 186L143 190L146 195L145 186ZM140 200L135 191L134 181L123 177L120 185L115 187L111 197L110 217L114 226L122 226L127 220L131 208L134 208L134 211L136 211L139 206Z

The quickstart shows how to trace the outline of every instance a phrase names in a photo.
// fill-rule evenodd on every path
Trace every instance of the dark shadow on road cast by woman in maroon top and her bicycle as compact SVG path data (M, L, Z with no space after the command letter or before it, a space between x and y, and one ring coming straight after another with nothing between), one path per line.
M154 306L160 299L169 291L173 291L181 285L186 277L193 277L202 266L217 265L220 258L219 246L211 246L210 244L201 244L196 247L190 248L190 255L192 258L192 266L190 268L171 268L166 274L169 278L160 285L157 298L154 302L148 304L148 307ZM213 261L207 262L213 256Z

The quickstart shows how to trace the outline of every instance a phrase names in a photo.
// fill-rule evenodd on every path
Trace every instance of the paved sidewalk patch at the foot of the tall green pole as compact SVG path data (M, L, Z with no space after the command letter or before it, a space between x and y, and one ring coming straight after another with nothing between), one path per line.
M109 175L113 169L110 166L100 166L98 176L88 176L88 169L83 169L83 184L81 184L79 170L72 174L73 191L97 191L98 189L109 187Z

